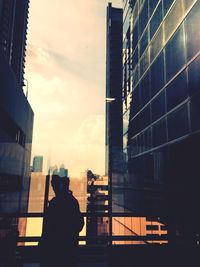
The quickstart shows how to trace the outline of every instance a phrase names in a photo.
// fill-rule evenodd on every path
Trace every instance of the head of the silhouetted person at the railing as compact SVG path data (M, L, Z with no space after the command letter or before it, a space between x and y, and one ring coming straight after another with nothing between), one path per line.
M52 175L51 185L55 195L61 195L69 191L69 177L60 177L59 175Z

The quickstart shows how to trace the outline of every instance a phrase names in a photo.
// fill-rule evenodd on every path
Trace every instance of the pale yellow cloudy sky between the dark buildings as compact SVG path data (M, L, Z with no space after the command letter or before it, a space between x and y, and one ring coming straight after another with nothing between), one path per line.
M104 174L107 4L30 1L25 78L35 113L32 155L64 163L70 176L87 168Z

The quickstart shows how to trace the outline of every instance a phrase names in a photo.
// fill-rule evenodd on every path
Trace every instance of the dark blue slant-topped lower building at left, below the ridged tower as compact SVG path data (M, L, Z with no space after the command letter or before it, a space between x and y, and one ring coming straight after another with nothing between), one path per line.
M0 211L28 208L33 111L0 51Z

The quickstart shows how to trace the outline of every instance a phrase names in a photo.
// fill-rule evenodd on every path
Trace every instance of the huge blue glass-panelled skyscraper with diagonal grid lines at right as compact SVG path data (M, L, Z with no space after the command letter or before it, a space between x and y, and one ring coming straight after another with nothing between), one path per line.
M123 4L125 206L160 213L169 225L183 232L193 227L194 234L199 231L200 1Z

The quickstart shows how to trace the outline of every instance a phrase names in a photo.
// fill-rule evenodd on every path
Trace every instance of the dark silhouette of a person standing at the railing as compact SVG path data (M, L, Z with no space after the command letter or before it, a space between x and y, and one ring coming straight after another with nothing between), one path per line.
M78 236L84 225L79 203L69 190L69 178L52 175L55 197L44 214L41 266L76 266Z

